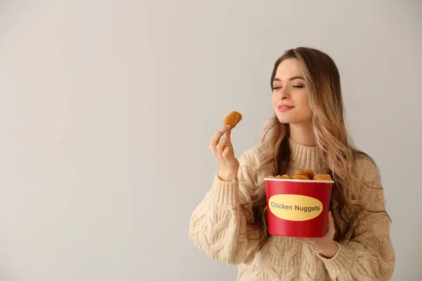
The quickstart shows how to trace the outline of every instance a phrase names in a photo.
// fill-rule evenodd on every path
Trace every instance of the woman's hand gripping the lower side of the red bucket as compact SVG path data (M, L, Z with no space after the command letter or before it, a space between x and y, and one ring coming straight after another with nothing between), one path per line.
M321 238L302 238L295 237L296 240L309 244L315 247L326 259L331 259L337 254L338 246L334 242L335 228L334 219L331 215L331 211L328 213L328 226L326 235Z

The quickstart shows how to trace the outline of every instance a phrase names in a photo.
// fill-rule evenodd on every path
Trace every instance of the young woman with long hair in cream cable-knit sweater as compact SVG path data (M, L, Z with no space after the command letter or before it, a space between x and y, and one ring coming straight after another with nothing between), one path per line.
M191 240L238 265L238 280L390 280L395 251L380 174L347 134L335 63L313 48L288 50L274 65L271 89L275 116L260 145L236 159L229 127L212 136L219 171L193 211ZM263 178L296 169L335 181L325 237L268 234Z

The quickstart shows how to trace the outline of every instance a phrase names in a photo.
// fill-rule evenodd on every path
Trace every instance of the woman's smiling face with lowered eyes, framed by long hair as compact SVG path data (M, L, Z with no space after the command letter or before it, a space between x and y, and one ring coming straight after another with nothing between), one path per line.
M283 124L308 123L312 119L305 79L298 60L283 60L277 68L273 82L272 104Z

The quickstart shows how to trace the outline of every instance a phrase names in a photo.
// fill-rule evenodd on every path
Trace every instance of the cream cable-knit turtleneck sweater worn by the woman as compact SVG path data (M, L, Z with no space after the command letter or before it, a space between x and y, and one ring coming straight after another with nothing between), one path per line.
M312 169L326 174L327 166L319 159L316 148L289 141L291 163L295 169ZM390 241L390 221L384 213L364 211L354 236L338 244L332 259L324 259L312 246L291 237L271 235L258 249L258 230L246 226L247 212L241 204L249 202L254 192L252 169L262 155L252 148L239 158L241 167L234 181L221 181L215 174L212 187L193 211L189 236L193 243L212 259L238 266L238 281L254 280L390 280L395 266L395 251ZM375 164L367 157L357 157L354 176L369 185L354 182L359 200L372 211L385 210L381 179ZM270 176L259 175L258 178Z

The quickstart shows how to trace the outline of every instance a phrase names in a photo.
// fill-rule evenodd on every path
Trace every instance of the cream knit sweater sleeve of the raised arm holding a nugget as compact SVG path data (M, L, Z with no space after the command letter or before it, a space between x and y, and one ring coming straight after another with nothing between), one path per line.
M193 211L189 223L189 236L196 247L212 259L229 264L251 261L260 241L260 231L246 225L252 208L248 214L241 207L252 200L250 158L250 152L239 158L238 178L234 181L221 181L215 175L212 188Z

